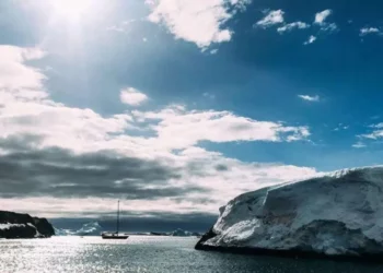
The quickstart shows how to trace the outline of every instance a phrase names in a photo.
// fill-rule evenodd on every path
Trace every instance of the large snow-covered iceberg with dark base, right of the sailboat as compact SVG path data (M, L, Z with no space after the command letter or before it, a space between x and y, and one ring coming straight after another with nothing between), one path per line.
M383 257L383 167L346 169L244 193L196 249Z

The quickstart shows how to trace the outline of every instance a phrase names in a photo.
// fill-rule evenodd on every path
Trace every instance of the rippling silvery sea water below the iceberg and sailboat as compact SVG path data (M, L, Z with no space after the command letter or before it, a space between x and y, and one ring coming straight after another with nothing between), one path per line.
M0 272L380 273L383 265L194 250L196 238L131 236L0 240Z

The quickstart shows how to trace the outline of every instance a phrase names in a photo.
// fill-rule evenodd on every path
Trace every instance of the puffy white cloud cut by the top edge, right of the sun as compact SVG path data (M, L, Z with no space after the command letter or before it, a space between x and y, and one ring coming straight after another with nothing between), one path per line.
M232 31L224 27L237 10L249 0L154 0L146 1L152 12L149 21L164 24L176 37L206 48L229 41Z

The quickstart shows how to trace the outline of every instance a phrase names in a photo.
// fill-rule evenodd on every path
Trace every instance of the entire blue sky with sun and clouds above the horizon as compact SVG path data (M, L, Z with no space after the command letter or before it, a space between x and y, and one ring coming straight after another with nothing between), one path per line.
M120 199L195 227L243 192L381 164L382 10L0 1L2 209L105 219Z

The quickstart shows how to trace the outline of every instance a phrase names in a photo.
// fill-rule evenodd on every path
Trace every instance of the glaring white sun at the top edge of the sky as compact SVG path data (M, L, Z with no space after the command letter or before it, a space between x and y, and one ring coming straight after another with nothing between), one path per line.
M89 13L96 0L53 0L54 13L69 21L77 21Z

